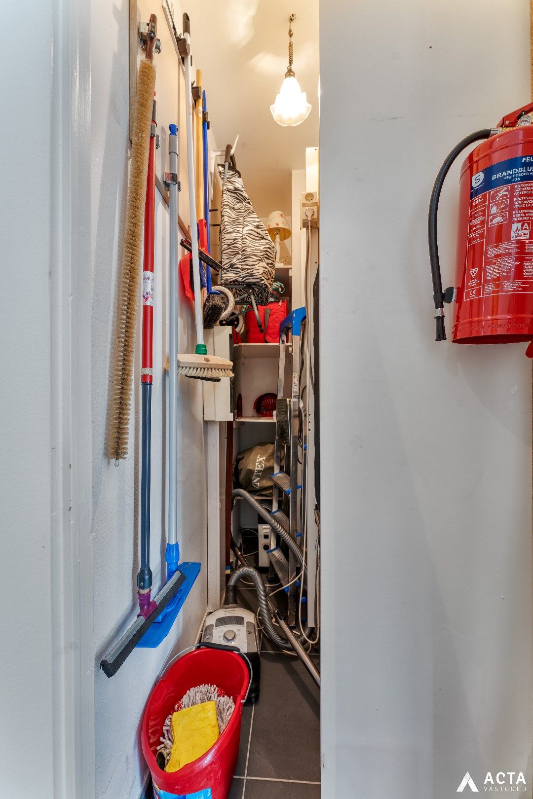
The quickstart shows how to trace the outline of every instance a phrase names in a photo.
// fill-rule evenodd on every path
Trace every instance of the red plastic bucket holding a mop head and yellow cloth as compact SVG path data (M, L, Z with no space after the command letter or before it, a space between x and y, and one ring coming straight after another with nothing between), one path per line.
M204 682L222 688L235 702L228 725L205 755L179 771L161 771L156 754L165 718L189 688ZM227 799L237 765L242 706L248 686L246 663L230 650L197 649L166 670L150 694L141 729L142 752L152 773L156 799Z

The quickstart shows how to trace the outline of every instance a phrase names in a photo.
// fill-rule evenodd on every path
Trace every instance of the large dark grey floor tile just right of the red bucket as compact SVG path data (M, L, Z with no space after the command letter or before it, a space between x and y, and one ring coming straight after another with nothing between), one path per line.
M296 658L261 658L247 775L320 781L320 690Z

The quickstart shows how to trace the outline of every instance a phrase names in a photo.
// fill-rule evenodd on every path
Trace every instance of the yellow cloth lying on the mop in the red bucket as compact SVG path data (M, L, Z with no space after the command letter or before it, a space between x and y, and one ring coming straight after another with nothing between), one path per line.
M170 723L174 742L165 771L177 771L192 763L205 754L220 735L216 702L202 702L178 710L172 714Z

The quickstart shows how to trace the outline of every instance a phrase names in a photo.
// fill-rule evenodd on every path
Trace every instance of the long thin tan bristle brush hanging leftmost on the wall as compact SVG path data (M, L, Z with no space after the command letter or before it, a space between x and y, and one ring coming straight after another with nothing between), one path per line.
M156 68L153 51L157 41L157 17L150 14L145 58L139 64L133 117L128 205L126 209L121 284L117 308L117 336L113 352L113 378L109 394L105 453L117 463L128 455L129 413L133 383L133 356L137 330L141 242L145 213L146 175Z

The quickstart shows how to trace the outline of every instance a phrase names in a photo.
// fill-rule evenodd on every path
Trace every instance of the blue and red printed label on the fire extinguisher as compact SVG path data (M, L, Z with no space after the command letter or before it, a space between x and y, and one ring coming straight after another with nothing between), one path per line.
M533 293L533 156L471 179L463 300Z

